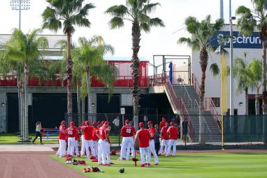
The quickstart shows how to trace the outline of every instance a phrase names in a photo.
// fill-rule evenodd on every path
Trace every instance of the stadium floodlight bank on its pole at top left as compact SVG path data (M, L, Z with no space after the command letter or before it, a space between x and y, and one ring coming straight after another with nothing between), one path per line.
M22 10L29 10L31 8L30 0L10 0L12 10L19 10L19 30L21 29Z

